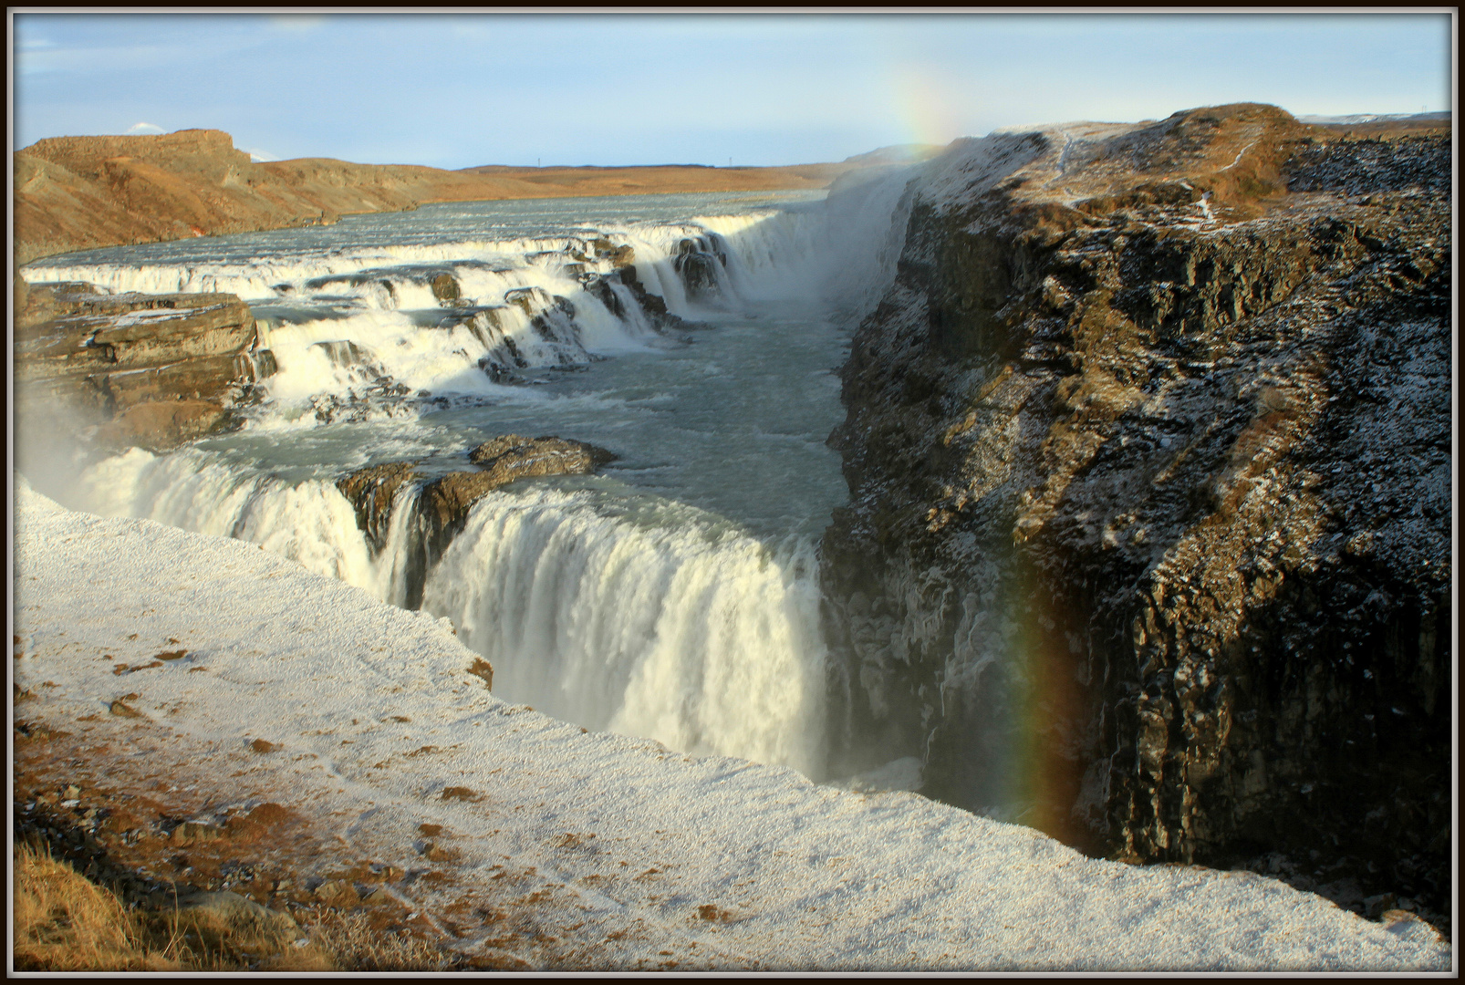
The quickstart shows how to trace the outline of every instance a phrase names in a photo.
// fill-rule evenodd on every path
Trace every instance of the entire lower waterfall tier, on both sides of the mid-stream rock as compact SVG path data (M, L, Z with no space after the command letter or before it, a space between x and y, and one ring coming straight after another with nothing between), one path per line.
M185 449L88 469L67 506L233 536L401 604L420 556L404 487L372 553L333 482L290 484ZM585 492L481 500L426 573L422 608L453 620L500 693L592 728L691 753L820 770L823 643L813 542L774 548L664 501Z

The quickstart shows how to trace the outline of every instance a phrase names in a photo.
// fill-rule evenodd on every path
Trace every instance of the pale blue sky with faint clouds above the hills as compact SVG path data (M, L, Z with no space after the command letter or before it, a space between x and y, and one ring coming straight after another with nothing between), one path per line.
M259 160L838 161L1223 103L1453 110L1449 13L15 13L13 132L227 130Z

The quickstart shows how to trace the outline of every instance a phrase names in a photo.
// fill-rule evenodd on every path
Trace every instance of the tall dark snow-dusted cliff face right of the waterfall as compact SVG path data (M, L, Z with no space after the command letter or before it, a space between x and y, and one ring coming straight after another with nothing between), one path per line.
M1449 183L1261 106L927 166L831 437L834 768L1447 909Z

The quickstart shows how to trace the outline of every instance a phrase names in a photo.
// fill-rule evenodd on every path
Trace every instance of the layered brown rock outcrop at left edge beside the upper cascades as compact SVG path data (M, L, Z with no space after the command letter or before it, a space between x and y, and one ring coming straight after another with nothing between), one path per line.
M272 371L233 295L105 293L32 284L15 321L22 427L60 415L100 447L170 449L239 424L243 391Z

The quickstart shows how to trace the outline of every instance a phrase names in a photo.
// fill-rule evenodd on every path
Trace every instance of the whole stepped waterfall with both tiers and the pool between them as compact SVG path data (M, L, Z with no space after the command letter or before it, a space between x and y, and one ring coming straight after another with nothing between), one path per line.
M817 778L815 544L845 495L823 444L832 371L848 315L892 276L905 177L828 201L435 205L34 264L32 283L239 293L277 366L245 429L48 491L248 539L398 605L416 578L502 696ZM620 457L488 494L416 573L420 487L372 542L335 485L381 462L467 471L505 432Z

